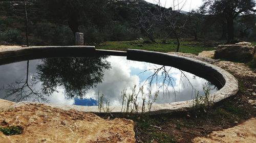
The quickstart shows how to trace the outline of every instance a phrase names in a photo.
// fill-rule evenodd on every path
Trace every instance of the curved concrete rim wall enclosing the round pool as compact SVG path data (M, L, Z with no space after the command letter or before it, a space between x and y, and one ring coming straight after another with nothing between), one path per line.
M128 49L126 52L110 51L110 50L95 50L93 46L44 46L44 47L22 47L12 48L0 51L0 65L7 64L15 61L32 60L39 58L53 58L53 57L67 57L67 56L95 56L102 54L111 55L127 55L127 60L151 62L154 64L161 64L166 66L172 66L181 70L193 73L197 76L201 76L220 89L219 91L210 95L210 99L214 102L219 102L227 97L235 95L238 92L238 81L231 74L225 70L216 67L214 65L194 60L191 58L185 58L183 56L170 55L167 53L134 50ZM16 103L14 106L23 105L27 102ZM165 103L165 104L153 104L152 113L167 113L177 110L187 110L193 107L194 100ZM77 106L77 105L53 105L53 107L62 109L77 109L86 112L98 112L98 106ZM120 106L111 106L111 112L120 112ZM141 107L139 107L141 109ZM139 110L140 111L140 110ZM147 111L147 110L146 110Z

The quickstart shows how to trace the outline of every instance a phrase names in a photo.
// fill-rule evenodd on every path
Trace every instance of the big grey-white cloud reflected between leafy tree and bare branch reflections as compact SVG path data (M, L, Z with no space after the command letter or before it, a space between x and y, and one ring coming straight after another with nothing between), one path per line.
M131 75L131 67L141 68L143 66L139 62L127 62L124 57L111 56L108 58L111 62L111 70L104 72L103 82L97 85L97 88L89 90L86 97L98 99L98 91L104 95L113 105L121 102L121 92L127 89L127 93L132 92L134 85L139 85L139 76Z

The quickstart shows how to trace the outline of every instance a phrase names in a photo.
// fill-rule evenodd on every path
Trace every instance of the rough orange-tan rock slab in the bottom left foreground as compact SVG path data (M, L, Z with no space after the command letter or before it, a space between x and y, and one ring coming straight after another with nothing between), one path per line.
M23 133L0 142L135 142L134 122L104 120L93 113L62 110L44 104L26 104L0 112L0 124L20 126Z

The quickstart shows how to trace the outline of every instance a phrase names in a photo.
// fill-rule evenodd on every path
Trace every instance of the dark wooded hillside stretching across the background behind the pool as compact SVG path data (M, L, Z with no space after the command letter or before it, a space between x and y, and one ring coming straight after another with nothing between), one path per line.
M72 3L71 3L72 2ZM143 0L28 0L30 45L73 45L74 33L84 33L86 44L104 41L147 41L167 38L219 40L225 25L215 16L172 11ZM162 17L166 14L168 21ZM175 16L174 16L175 15ZM255 15L234 21L235 36L255 41ZM174 25L170 28L170 24ZM253 39L254 38L254 39ZM25 44L23 1L0 2L0 44Z

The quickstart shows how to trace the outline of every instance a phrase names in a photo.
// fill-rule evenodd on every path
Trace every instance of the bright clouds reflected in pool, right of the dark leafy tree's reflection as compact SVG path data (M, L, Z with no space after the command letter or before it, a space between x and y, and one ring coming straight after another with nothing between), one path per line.
M104 100L110 101L111 105L121 105L121 92L126 89L126 94L132 94L132 89L134 85L137 85L136 91L139 91L139 87L144 85L144 93L148 93L148 82L145 81L148 76L154 73L155 68L161 68L160 65L135 62L135 61L126 61L124 57L112 56L108 59L111 61L112 69L105 71L104 81L97 85L97 88L91 89L86 97L92 97L93 99L98 99L98 91L100 94L104 95ZM168 70L170 67L166 67ZM146 71L146 72L144 72ZM182 74L184 73L185 76ZM154 93L159 90L159 95L156 103L167 103L167 102L176 102L176 101L185 101L190 100L195 97L195 90L200 92L200 95L203 95L202 87L207 82L205 79L200 77L195 77L195 75L182 72L179 69L172 68L169 70L169 75L173 78L174 87L169 85L167 88L160 88L162 85L161 72L158 73L159 80L158 85L156 80L152 83L152 96ZM141 78L143 80L141 80ZM189 82L188 82L189 79ZM167 82L165 82L167 84ZM191 87L193 85L194 89ZM175 92L174 92L175 90ZM175 96L175 94L176 96ZM147 96L146 96L147 97ZM138 102L142 103L141 94L138 97Z

